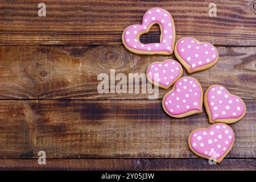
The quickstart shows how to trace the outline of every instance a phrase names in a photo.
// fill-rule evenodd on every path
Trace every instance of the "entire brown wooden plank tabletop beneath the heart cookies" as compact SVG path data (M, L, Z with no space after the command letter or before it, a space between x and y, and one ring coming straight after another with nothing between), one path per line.
M41 2L41 1L40 1ZM256 169L256 1L0 1L0 169ZM122 31L152 7L168 10L176 40L214 44L218 63L193 73L205 91L224 85L247 112L232 124L236 140L221 164L209 165L187 137L208 127L207 114L182 119L164 113L148 94L100 94L99 73L144 73L162 55L136 55ZM157 42L159 28L142 37ZM188 75L187 72L184 75ZM46 151L46 165L38 152Z

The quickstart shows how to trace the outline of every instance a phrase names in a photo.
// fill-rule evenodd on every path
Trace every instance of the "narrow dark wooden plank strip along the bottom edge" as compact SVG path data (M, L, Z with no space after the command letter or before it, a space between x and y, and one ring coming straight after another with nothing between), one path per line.
M0 170L255 170L256 159L224 159L210 165L206 159L1 159Z

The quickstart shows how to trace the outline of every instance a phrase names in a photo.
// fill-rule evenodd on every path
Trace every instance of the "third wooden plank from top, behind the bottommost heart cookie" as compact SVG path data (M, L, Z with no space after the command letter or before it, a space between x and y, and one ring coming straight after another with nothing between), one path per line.
M227 158L255 158L256 100L245 104ZM209 126L205 111L171 118L160 100L1 100L0 158L197 158L187 137Z

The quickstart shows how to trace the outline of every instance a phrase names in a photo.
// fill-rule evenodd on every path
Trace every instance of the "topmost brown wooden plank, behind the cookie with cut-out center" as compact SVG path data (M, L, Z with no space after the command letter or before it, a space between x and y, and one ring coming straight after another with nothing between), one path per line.
M256 46L255 1L53 1L45 0L46 17L38 16L36 0L0 2L1 45L120 45L122 31L141 23L152 7L169 11L177 39L193 36L223 46ZM157 29L144 41L158 41Z

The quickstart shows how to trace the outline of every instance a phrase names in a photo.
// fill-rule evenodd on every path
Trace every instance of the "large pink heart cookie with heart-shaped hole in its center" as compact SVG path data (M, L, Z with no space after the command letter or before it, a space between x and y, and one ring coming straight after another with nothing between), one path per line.
M150 31L150 28L155 23L159 24L161 30L160 42L141 43L139 37ZM134 53L143 55L171 55L175 44L174 20L168 11L160 7L150 9L144 14L142 24L133 24L123 31L122 41L125 47Z

